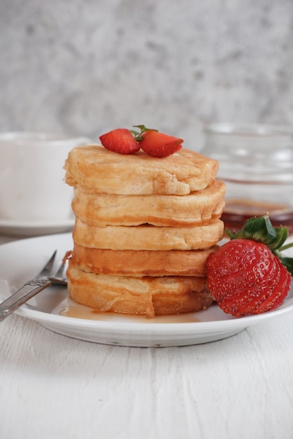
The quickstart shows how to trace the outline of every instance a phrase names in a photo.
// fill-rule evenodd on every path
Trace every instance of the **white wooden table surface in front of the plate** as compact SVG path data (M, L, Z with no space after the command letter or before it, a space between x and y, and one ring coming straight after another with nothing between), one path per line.
M0 331L1 439L293 438L292 314L177 348L83 342L16 315Z

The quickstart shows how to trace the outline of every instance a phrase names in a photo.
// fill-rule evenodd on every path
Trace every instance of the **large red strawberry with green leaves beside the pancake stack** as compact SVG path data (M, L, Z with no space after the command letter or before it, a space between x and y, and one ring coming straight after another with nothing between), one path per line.
M268 215L249 219L207 259L207 285L225 313L235 317L271 311L289 292L293 259L282 257L286 227L273 227Z

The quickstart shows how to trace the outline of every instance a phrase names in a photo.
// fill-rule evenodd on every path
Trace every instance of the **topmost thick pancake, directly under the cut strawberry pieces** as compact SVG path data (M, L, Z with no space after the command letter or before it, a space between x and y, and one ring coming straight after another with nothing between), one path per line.
M70 186L100 194L185 195L214 182L218 161L182 148L165 158L117 154L98 144L75 147L65 162Z

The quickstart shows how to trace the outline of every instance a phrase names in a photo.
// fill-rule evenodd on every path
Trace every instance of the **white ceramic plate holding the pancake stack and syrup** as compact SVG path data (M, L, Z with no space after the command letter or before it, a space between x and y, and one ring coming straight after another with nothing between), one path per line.
M11 291L34 277L56 248L58 266L65 252L72 249L71 234L27 238L0 245L0 299L5 299ZM292 311L291 289L280 308L259 316L233 318L214 304L199 313L158 316L148 320L143 316L94 313L86 306L70 301L66 288L54 287L39 293L15 312L68 337L102 344L146 347L213 342Z

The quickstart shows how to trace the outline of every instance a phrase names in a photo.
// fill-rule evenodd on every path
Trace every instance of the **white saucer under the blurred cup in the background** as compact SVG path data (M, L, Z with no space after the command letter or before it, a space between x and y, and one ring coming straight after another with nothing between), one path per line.
M74 219L65 219L58 222L17 221L0 219L0 233L13 236L39 236L59 234L70 231L74 226Z

